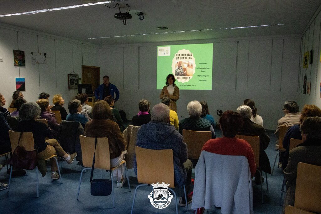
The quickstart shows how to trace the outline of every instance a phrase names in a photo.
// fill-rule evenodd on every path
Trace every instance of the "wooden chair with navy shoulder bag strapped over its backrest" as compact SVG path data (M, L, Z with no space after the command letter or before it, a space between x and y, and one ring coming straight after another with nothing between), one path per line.
M94 137L86 137L83 135L79 136L80 138L80 144L82 148L82 164L84 167L79 179L79 187L78 187L78 194L77 194L77 200L79 197L79 190L80 190L80 184L82 180L82 173L86 169L91 169L92 167L92 160L94 158L94 152L95 152L95 138ZM129 184L129 177L127 173L127 167L126 167L126 160L123 160L117 167L121 166L122 164L125 164L125 171L126 171L126 178L128 182L128 188L130 189ZM115 170L117 167L110 167L110 154L109 154L109 144L108 144L108 138L107 137L100 137L97 138L97 146L96 146L96 154L95 154L95 169L102 169L109 171L110 179L111 179L111 186L112 186L112 195L113 195L113 205L115 208L115 197L114 197L114 182L113 182L113 175L112 171Z

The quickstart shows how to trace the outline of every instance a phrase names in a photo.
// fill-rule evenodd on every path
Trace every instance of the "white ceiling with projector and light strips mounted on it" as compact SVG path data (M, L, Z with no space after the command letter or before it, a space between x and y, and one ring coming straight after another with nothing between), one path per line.
M101 1L0 0L0 15ZM132 19L127 20L126 25L114 18L114 14L119 13L118 6L109 9L102 4L0 17L0 22L96 45L288 35L303 32L321 0L128 0L118 3L122 13L128 8L125 4L131 7ZM135 12L143 12L144 20L140 21ZM223 30L269 24L284 25ZM168 30L157 30L160 26ZM220 30L204 30L217 28ZM188 30L204 31L151 34ZM151 35L133 36L138 34ZM131 36L88 39L123 35Z

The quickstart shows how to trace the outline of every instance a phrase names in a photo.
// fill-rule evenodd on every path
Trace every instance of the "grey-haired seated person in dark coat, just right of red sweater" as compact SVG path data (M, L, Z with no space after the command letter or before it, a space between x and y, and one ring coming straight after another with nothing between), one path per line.
M260 170L263 170L266 173L271 174L271 166L269 158L264 150L269 145L270 137L267 136L263 126L259 124L255 124L250 120L252 115L252 109L249 106L240 106L236 109L236 112L242 116L243 119L243 126L241 126L239 130L239 134L241 135L256 135L260 137ZM255 181L256 184L260 184L260 177L259 174L256 174ZM263 180L263 177L261 178Z

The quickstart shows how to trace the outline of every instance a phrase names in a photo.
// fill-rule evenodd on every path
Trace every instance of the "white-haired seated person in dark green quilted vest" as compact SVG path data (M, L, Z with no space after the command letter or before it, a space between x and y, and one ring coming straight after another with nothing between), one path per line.
M190 101L187 104L187 112L189 117L179 121L179 133L183 135L183 129L192 131L211 131L212 138L216 138L214 128L211 122L201 118L202 105L197 100Z

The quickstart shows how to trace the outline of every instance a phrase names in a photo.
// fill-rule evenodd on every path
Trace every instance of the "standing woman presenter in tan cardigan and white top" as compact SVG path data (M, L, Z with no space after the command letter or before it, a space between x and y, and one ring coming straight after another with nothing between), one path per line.
M166 77L166 85L160 92L160 98L168 97L170 98L169 108L175 112L176 111L176 100L179 98L179 89L175 85L175 77L173 74L169 74Z

